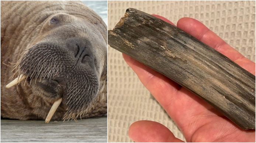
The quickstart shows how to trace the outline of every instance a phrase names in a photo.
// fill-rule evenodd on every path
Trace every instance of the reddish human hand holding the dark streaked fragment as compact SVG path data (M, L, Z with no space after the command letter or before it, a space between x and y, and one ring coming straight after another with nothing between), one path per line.
M174 25L166 18L154 16ZM246 59L199 21L181 18L177 27L255 75L254 62ZM255 142L255 130L240 129L210 104L179 84L130 56L123 56L142 84L179 127L187 142ZM183 142L167 127L153 121L134 122L129 128L129 137L135 142Z

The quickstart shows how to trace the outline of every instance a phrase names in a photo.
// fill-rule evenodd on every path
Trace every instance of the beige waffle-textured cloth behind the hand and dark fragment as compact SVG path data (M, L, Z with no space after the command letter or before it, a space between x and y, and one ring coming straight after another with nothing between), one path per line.
M175 24L182 17L196 18L255 61L255 1L108 1L108 29L113 29L129 7L161 15ZM138 120L160 122L185 140L121 53L108 47L108 142L132 142L128 128Z

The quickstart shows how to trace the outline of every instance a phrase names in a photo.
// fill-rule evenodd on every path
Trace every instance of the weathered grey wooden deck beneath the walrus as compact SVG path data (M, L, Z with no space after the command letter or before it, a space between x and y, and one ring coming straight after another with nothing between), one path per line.
M107 142L107 117L48 124L1 120L1 142Z

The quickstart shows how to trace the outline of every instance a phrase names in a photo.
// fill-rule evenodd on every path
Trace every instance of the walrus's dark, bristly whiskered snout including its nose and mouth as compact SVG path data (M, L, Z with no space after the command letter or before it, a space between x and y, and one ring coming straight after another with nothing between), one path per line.
M21 58L18 67L43 96L63 96L62 102L67 106L64 120L83 115L98 94L99 80L89 41L70 38L66 45L38 43ZM59 79L65 86L54 82Z

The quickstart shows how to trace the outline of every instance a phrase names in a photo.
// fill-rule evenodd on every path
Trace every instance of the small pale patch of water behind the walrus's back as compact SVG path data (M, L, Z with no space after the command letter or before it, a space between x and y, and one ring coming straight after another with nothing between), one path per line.
M105 23L107 23L107 4L108 2L106 0L99 0L99 1L82 1L87 7L91 8L93 11L95 11L100 17L103 19Z

